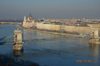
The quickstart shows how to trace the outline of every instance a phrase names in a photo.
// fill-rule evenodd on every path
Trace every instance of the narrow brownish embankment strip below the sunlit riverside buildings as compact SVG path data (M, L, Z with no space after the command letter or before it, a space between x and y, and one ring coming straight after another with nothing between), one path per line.
M38 31L41 33L50 33L50 34L56 34L56 35L62 35L62 36L76 36L76 34L68 34L68 33L63 33L63 32L54 32L54 31L47 31L47 30L41 30L41 29L36 29L36 28L25 28L22 27L22 25L18 25L20 29L27 30L27 31Z

